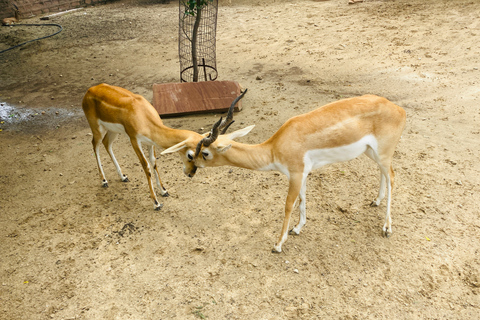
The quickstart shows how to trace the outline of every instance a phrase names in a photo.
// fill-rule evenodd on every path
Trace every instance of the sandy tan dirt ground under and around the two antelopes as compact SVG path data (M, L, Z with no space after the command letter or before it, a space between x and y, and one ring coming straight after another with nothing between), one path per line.
M171 196L157 212L122 137L131 182L102 150L101 187L82 96L107 82L151 100L154 83L178 82L177 12L175 1L90 7L0 55L0 319L478 319L480 3L221 1L219 80L249 89L234 129L256 124L242 142L365 93L407 111L392 237L385 202L369 207L378 169L361 156L312 172L307 225L280 254L279 173L189 179L162 156ZM0 50L54 31L1 27ZM164 122L205 132L218 116Z

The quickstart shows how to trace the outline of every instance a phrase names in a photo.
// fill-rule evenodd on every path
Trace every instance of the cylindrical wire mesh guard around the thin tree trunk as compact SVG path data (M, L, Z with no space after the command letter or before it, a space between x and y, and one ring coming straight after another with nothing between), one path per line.
M218 0L179 0L180 81L217 79Z

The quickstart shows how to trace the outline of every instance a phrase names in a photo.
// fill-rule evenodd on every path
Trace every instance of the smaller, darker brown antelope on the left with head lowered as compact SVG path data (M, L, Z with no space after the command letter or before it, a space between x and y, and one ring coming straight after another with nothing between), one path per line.
M82 108L92 129L93 150L97 158L102 185L108 187L100 161L100 142L103 142L105 149L107 149L120 179L124 182L128 181L127 176L122 174L112 150L113 142L117 136L120 133L126 133L147 176L150 196L154 201L154 209L160 210L163 205L158 202L155 195L152 175L155 175L161 195L166 197L168 192L163 187L158 173L155 161L155 146L168 148L181 141L197 144L203 136L193 131L166 127L162 123L158 112L145 98L126 89L108 84L91 87L83 98ZM143 153L142 144L148 146L148 161ZM179 152L179 154L184 163L185 174L193 177L196 171L195 163L191 161L193 156L190 154L192 158L188 159L187 153Z

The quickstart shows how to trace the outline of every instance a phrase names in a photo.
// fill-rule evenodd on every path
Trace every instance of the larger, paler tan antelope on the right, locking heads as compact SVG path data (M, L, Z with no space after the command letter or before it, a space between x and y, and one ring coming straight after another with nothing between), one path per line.
M287 120L268 140L255 145L234 141L248 134L254 125L219 135L219 129L227 127L232 121L229 117L225 120L220 118L210 134L197 145L185 140L162 154L187 148L187 154L191 155L189 159L193 156L192 162L198 168L229 165L285 174L289 180L285 217L273 252L281 252L287 240L297 198L300 200L300 219L290 233L299 234L306 223L305 192L310 171L330 163L352 160L363 153L380 168L380 190L371 205L378 206L387 191L383 235L391 235L390 207L395 175L392 159L405 127L404 109L374 95L344 99Z

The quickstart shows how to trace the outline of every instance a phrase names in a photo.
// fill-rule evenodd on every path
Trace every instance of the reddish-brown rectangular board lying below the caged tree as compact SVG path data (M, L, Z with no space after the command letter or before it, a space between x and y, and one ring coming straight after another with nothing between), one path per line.
M153 106L160 116L226 112L241 94L235 81L162 83L153 85ZM243 100L243 99L242 99ZM242 100L235 111L242 109Z

